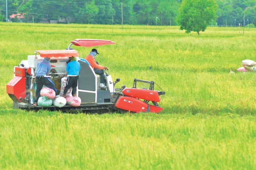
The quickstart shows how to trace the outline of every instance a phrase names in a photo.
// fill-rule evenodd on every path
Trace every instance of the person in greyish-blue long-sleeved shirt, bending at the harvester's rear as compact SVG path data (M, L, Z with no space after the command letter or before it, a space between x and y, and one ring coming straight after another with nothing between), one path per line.
M49 75L50 70L51 70L50 58L45 58L42 62L39 62L36 66L36 71L35 71L36 99L35 99L34 106L37 106L37 101L40 97L40 91L43 88L43 85L57 92L57 89L55 88L54 83L48 77L45 77L45 75Z

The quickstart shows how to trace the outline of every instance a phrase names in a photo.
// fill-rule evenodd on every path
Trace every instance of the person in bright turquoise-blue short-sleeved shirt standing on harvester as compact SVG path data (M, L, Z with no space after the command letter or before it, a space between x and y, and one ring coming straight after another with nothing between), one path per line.
M71 61L67 64L65 76L68 76L67 84L65 86L63 96L66 96L68 89L72 87L72 96L77 96L77 83L79 78L80 63L75 57L71 57Z

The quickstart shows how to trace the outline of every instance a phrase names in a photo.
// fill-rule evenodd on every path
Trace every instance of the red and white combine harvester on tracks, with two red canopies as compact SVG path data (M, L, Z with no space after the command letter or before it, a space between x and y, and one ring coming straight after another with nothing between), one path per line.
M115 44L110 40L76 39L65 50L36 50L35 55L29 55L28 60L22 60L19 66L14 67L14 78L6 85L7 93L13 100L14 108L26 110L61 110L63 112L83 111L104 113L110 111L131 112L154 112L158 113L163 108L159 107L160 97L165 95L164 91L155 91L153 81L134 79L132 88L114 88L120 81L117 78L112 81L111 75L105 71L106 89L101 89L100 77L96 75L90 64L79 58L78 52L71 49L71 45L82 47L95 47L99 45ZM50 76L58 90L64 85L61 78L64 77L67 61L71 56L77 57L80 63L80 77L78 79L77 96L81 98L79 107L64 106L61 108L50 106L33 106L35 100L35 70L37 63L44 58L50 58ZM149 104L149 102L151 104Z

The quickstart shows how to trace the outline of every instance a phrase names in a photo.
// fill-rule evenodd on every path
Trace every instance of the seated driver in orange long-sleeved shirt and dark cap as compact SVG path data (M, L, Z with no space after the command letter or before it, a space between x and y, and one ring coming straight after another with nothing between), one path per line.
M85 57L85 60L89 62L89 64L92 66L92 69L96 74L100 75L100 88L105 89L107 86L104 85L104 71L103 69L107 69L107 67L100 66L99 64L96 63L95 57L96 55L99 54L97 49L93 48L92 51L88 56Z

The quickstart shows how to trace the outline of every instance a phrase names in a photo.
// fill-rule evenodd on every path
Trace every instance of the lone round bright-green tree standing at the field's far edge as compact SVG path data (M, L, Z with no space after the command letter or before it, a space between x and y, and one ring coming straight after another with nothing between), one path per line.
M177 23L186 33L205 31L216 15L217 4L214 0L183 0L179 8Z

